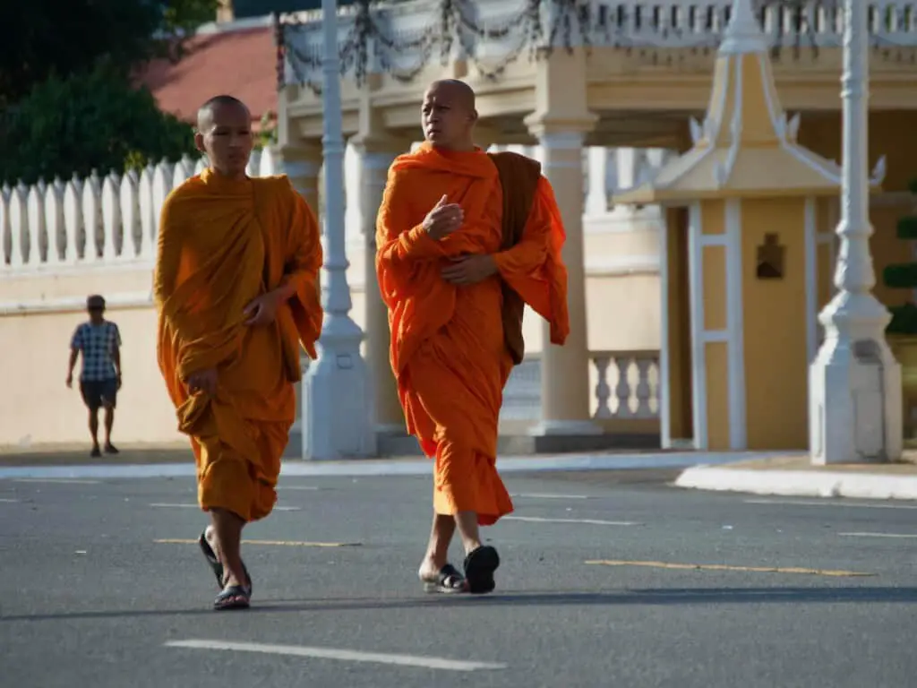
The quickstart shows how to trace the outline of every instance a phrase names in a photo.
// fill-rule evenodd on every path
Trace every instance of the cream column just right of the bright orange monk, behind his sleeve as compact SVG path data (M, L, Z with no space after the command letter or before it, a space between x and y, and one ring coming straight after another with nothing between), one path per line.
M563 259L568 271L570 332L567 343L550 343L544 325L541 354L541 423L539 435L594 435L602 430L591 421L589 348L586 336L586 278L583 269L583 131L564 128L549 130L543 123L531 124L541 144L543 172L554 187L560 216L567 230Z

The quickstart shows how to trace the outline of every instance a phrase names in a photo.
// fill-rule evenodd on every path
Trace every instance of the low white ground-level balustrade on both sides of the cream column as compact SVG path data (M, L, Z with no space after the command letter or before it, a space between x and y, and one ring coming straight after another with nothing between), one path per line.
M596 420L659 417L659 352L591 351ZM537 421L541 417L541 360L533 354L514 368L503 393L503 421Z

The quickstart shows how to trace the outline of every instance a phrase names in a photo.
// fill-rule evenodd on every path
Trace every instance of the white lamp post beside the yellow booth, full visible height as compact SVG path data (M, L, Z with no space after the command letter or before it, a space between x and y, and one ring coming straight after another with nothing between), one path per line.
M812 463L895 461L903 444L901 371L885 340L890 315L876 283L868 216L867 3L845 0L843 213L838 292L819 319L825 338L809 369Z

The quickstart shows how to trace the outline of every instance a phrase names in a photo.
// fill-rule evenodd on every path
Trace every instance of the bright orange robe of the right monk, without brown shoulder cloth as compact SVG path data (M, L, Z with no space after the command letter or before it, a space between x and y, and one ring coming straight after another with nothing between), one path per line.
M569 333L565 234L547 179L537 180L521 240L501 250L503 194L497 168L481 150L444 152L424 144L389 171L377 223L376 268L389 309L391 362L407 430L435 459L434 510L471 511L481 525L512 513L496 470L503 387L514 361L503 334L503 284L550 324L550 340ZM446 194L461 205L462 227L432 239L421 226ZM492 254L499 274L456 286L450 259Z

